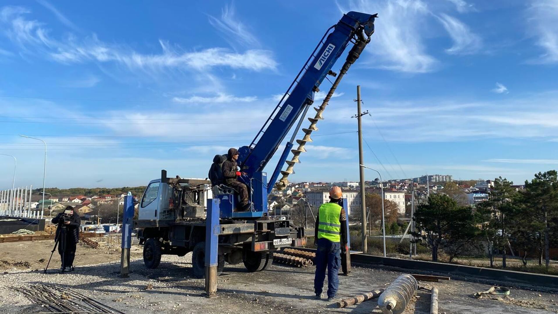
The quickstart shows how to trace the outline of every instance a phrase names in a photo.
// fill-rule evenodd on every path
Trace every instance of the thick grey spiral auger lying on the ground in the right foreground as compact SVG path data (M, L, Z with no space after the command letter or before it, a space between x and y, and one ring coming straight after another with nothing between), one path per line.
M391 283L378 298L378 306L384 314L400 314L405 311L418 288L412 275L401 275Z

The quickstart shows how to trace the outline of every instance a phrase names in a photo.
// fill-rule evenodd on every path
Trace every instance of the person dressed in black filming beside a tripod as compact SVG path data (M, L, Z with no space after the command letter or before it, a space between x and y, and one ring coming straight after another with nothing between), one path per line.
M67 206L64 212L52 218L52 223L57 224L56 239L59 241L58 253L62 261L60 271L69 272L74 270L75 248L79 241L81 219L79 215L74 212L73 207ZM62 231L62 229L65 230Z

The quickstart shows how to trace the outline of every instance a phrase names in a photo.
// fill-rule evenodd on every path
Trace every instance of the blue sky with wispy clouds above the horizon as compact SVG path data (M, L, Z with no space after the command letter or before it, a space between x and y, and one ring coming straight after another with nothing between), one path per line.
M557 0L3 1L0 153L17 157L16 185L42 185L44 154L18 134L48 143L47 187L205 178L351 10L379 13L376 33L290 180L358 179L357 84L365 163L384 179L556 168ZM0 188L12 165L0 156Z

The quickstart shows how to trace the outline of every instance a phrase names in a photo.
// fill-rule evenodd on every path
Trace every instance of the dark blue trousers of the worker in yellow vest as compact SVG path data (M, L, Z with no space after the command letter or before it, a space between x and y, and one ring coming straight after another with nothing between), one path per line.
M328 269L328 297L335 297L339 288L339 266L341 265L341 244L328 239L318 239L316 251L316 275L314 276L314 293L324 291L325 269Z

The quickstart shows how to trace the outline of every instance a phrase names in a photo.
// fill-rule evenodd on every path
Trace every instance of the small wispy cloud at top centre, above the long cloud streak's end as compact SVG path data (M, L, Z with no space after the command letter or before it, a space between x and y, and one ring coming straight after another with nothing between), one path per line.
M225 6L221 11L221 18L209 16L209 23L230 45L240 44L244 47L259 47L259 41L243 22L235 16L234 5Z

